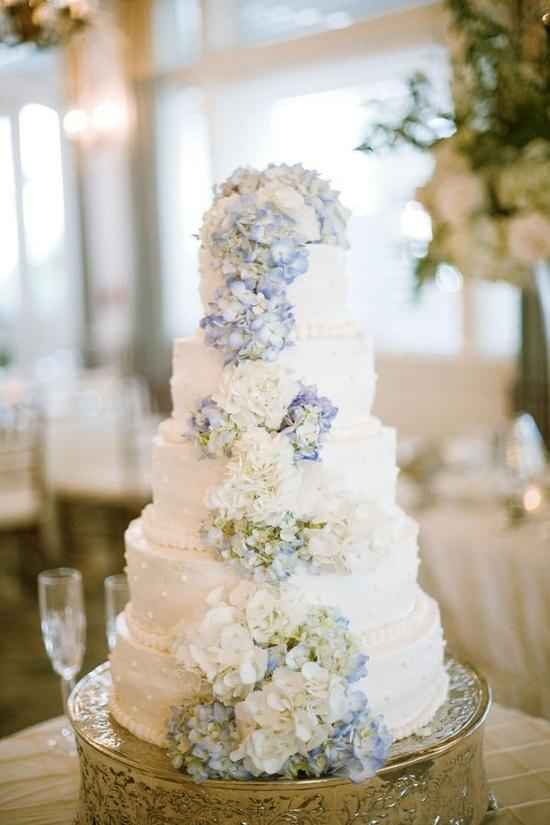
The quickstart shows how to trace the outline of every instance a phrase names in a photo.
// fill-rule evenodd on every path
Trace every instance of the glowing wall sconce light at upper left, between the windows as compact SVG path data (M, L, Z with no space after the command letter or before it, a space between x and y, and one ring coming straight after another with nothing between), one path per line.
M90 107L70 109L63 118L63 129L71 140L82 143L111 143L123 139L130 125L123 98L105 98Z

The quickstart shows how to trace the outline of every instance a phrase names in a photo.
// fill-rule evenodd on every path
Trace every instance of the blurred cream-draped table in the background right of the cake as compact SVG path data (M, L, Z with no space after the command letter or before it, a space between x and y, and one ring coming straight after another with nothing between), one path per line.
M420 581L450 652L485 674L496 701L550 719L550 524L510 527L494 504L441 503L417 518Z

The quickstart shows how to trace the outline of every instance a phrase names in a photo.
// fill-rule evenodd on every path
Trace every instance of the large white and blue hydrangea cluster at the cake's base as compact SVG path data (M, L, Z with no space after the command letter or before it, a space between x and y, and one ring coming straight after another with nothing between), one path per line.
M246 582L209 604L174 645L203 681L200 701L170 720L175 766L199 781L372 776L391 740L353 687L367 657L349 622Z

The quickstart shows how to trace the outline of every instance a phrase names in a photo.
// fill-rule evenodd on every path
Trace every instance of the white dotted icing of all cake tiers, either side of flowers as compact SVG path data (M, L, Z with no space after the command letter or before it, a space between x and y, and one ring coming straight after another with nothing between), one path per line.
M328 482L330 489L359 503L374 502L391 517L381 520L374 549L369 545L363 553L354 546L351 573L301 572L286 586L303 600L339 607L350 619L369 655L363 683L369 703L402 738L429 723L447 695L439 610L417 585L416 526L395 508L395 433L371 417L373 353L350 317L346 254L327 244L310 244L308 253L307 272L288 288L296 344L276 363L305 385L316 385L339 413L322 462L303 462L300 495L314 501ZM220 284L204 248L201 271L207 302ZM154 442L153 504L126 534L131 603L119 617L111 654L111 707L121 724L159 745L170 707L191 701L197 690L196 677L178 668L170 653L175 629L201 619L212 590L239 581L229 564L204 547L200 534L207 494L222 482L227 462L202 458L186 438L191 415L219 389L223 371L223 353L208 346L202 332L175 342L174 414ZM364 509L376 519L374 510Z

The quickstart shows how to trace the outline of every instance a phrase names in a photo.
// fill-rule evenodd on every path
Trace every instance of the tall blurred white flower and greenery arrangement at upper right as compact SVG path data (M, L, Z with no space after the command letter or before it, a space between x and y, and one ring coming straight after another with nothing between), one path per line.
M374 122L359 148L405 143L433 152L431 180L416 194L433 234L416 260L419 283L449 264L465 277L523 286L533 266L550 258L550 48L542 4L446 5L454 111L439 111L426 78L416 75L405 116Z

